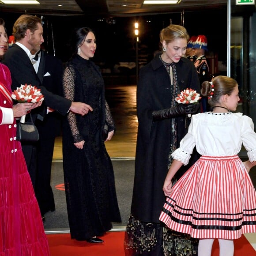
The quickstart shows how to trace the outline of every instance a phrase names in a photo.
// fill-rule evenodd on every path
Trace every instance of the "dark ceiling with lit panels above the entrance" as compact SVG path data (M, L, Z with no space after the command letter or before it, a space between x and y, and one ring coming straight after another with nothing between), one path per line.
M181 0L179 4L144 5L143 0L38 0L38 5L6 5L0 10L40 15L90 15L102 17L151 15L220 8L227 0ZM62 6L59 6L62 5Z

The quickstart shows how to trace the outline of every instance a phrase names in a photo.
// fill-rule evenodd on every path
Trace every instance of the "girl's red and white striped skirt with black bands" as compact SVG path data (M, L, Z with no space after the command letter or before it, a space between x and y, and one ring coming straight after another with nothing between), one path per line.
M174 184L159 219L196 238L256 232L256 191L241 159L200 157Z

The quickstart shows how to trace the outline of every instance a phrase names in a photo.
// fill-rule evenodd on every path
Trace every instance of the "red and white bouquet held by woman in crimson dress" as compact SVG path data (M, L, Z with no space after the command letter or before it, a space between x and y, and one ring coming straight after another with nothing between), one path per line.
M44 95L41 94L41 90L37 87L22 84L20 87L17 87L17 89L12 92L11 98L13 98L15 101L19 103L38 103L44 100ZM25 122L25 117L26 115L21 117L21 123Z

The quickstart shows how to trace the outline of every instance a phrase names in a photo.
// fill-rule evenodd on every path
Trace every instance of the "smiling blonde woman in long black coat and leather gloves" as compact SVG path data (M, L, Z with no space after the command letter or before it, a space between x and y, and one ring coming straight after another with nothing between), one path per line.
M187 132L190 122L187 114L197 113L200 107L199 103L177 104L175 101L181 90L200 91L195 65L182 57L188 39L183 26L170 25L163 29L160 33L162 53L139 72L135 179L124 241L127 256L196 255L196 243L191 243L190 237L168 231L159 222L165 202L162 187L172 162L171 153ZM195 153L191 164L197 159ZM177 173L176 180L186 169Z

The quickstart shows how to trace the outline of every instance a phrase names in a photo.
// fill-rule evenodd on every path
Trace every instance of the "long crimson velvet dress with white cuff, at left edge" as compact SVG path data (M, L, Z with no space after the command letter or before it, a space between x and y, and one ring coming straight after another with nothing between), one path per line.
M16 140L11 76L0 64L0 256L49 256L38 202Z

